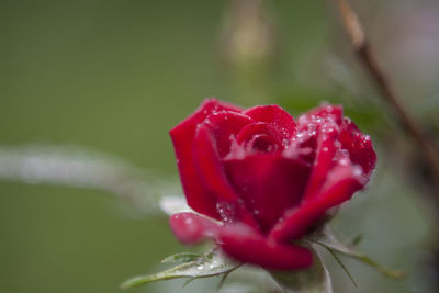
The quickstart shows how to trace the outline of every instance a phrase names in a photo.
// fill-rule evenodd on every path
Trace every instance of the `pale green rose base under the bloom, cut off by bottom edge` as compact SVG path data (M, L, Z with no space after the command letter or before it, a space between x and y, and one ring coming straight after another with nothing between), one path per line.
M313 251L313 266L304 270L269 273L285 293L333 293L330 277L317 251Z

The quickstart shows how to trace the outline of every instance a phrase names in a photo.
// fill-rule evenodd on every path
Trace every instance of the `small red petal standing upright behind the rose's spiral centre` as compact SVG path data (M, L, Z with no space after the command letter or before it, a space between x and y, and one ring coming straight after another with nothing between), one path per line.
M294 119L279 105L258 105L244 112L258 122L266 122L272 125L282 139L290 140L295 132Z

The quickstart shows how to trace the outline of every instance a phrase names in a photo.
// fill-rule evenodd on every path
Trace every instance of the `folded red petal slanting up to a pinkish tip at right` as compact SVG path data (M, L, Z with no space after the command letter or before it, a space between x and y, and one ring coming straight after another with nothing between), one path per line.
M360 169L351 165L338 165L328 174L322 193L305 201L299 209L288 211L269 237L278 241L301 238L327 210L349 200L364 183Z

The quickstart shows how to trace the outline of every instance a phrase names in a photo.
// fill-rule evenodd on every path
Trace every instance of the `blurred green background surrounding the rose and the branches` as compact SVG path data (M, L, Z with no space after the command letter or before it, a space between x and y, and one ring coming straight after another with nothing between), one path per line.
M404 103L439 132L439 3L352 1ZM205 97L297 114L344 103L370 133L379 166L334 226L386 280L346 260L357 292L434 292L435 237L419 153L353 58L333 1L0 1L0 146L80 146L177 182L168 131ZM13 180L11 180L13 181ZM109 192L0 182L0 292L120 292L125 279L185 251L165 215ZM133 209L134 210L134 209ZM133 213L132 213L133 212ZM436 229L437 230L437 229ZM356 291L326 256L335 292ZM209 292L195 281L183 292ZM180 292L182 281L130 292ZM244 292L244 291L243 291ZM259 292L259 291L255 291Z

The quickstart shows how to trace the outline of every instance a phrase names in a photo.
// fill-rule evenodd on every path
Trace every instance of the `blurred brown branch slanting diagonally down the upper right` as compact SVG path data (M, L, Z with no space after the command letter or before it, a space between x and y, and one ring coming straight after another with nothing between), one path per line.
M373 50L370 48L364 30L359 21L357 13L347 0L336 0L340 16L344 21L346 32L349 34L352 47L359 57L363 68L382 92L382 98L394 109L399 123L414 138L414 142L423 150L430 171L434 174L431 184L435 188L437 201L439 201L439 149L435 142L425 135L417 121L410 115L401 102L395 90L392 88L387 76L383 71Z

